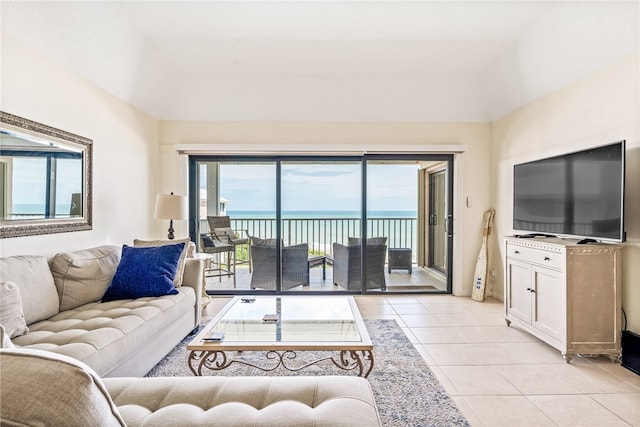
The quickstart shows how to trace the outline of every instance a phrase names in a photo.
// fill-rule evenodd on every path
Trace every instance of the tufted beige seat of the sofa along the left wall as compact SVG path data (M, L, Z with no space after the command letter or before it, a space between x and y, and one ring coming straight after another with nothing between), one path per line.
M73 357L104 376L123 363L128 352L152 342L158 331L193 311L195 300L195 290L182 286L178 294L162 298L93 302L30 324L29 334L13 343Z

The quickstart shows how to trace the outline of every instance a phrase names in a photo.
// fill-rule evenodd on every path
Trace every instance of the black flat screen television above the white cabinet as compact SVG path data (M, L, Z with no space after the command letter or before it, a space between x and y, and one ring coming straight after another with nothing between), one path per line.
M513 229L605 242L624 232L625 141L513 167Z

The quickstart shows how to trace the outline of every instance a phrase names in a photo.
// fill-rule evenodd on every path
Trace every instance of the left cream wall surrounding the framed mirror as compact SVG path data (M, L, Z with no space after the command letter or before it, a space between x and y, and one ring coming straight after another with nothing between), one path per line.
M93 229L0 240L0 255L53 255L148 238L154 220L158 124L7 35L3 111L93 140Z

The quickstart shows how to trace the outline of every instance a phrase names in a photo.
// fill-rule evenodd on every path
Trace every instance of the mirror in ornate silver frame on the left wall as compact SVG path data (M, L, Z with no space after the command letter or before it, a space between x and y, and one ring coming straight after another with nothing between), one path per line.
M0 111L0 238L91 229L92 144Z

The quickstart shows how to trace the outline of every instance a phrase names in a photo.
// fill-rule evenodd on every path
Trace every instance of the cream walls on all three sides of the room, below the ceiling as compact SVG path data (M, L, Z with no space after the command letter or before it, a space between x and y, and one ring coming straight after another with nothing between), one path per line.
M3 111L94 142L93 230L0 240L0 256L52 255L136 237L162 238L154 220L158 192L187 194L187 158L175 144L462 145L456 156L454 290L468 295L480 245L482 213L494 207L488 293L502 296L498 236L511 229L514 163L586 145L627 140L627 233L623 301L630 328L640 330L640 100L638 56L620 61L554 94L485 123L160 122L2 35ZM158 145L158 141L160 144ZM471 207L464 201L470 196ZM187 235L186 222L176 224ZM464 238L463 238L464 237Z

